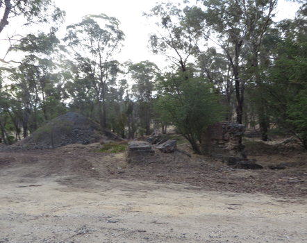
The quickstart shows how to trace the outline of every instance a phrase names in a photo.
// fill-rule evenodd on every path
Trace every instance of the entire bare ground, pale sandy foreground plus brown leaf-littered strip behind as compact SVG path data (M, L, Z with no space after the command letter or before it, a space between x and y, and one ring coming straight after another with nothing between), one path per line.
M254 153L265 169L241 170L98 147L0 151L0 242L307 242L306 153Z

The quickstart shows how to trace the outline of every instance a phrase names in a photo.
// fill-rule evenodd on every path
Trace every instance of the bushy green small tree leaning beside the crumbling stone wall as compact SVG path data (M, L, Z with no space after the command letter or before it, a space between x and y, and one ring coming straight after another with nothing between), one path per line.
M222 108L213 85L204 78L188 76L187 73L166 74L158 78L158 105L160 119L171 123L176 132L183 135L195 153L204 129L219 121Z

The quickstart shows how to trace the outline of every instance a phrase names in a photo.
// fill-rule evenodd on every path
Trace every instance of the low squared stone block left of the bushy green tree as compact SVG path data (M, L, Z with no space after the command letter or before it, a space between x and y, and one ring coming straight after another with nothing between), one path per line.
M149 142L140 141L128 142L127 152L128 162L131 162L133 160L138 161L144 156L152 156L155 154L155 151L151 148Z

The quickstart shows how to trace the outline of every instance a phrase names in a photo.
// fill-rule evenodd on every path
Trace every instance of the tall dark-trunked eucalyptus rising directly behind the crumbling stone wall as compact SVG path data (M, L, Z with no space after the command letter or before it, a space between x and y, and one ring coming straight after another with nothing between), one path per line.
M202 1L206 9L206 37L226 53L235 81L237 121L242 123L244 89L247 81L261 85L258 76L258 53L265 31L272 24L277 0ZM249 77L245 74L249 73ZM249 80L247 80L249 79ZM267 124L259 110L263 140L267 139Z

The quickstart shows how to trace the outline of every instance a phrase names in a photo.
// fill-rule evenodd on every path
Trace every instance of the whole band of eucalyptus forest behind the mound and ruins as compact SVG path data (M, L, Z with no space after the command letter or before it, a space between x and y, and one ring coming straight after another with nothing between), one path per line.
M129 139L172 125L196 153L215 121L257 128L264 141L292 135L307 149L307 3L293 3L294 19L278 22L278 0L156 3L144 19L156 23L149 48L165 57L159 69L117 60L125 33L116 17L86 15L60 39L65 12L53 1L0 0L8 44L0 59L2 140L13 144L72 111ZM20 31L4 35L14 19Z

